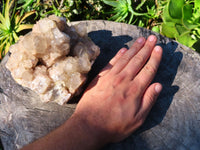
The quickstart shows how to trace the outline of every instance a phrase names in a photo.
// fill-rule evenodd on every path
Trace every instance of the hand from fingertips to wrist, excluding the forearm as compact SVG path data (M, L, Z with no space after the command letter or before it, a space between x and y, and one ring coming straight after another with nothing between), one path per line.
M156 37L141 37L122 48L91 82L73 117L104 144L120 141L142 125L162 86L151 84L159 67L162 48ZM151 84L151 85L150 85Z

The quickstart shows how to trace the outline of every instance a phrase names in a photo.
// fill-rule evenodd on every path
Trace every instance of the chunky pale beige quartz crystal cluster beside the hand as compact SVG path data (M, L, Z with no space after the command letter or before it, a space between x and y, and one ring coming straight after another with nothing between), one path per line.
M100 50L84 27L69 27L64 18L49 16L20 37L10 52L6 67L15 81L38 93L43 102L63 105L79 92Z

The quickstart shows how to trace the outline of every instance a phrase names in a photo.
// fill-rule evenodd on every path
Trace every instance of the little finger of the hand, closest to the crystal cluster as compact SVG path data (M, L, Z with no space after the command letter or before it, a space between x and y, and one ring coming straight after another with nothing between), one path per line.
M99 76L104 76L116 64L120 57L126 53L126 48L121 48L117 54L110 60L110 62L101 70Z

